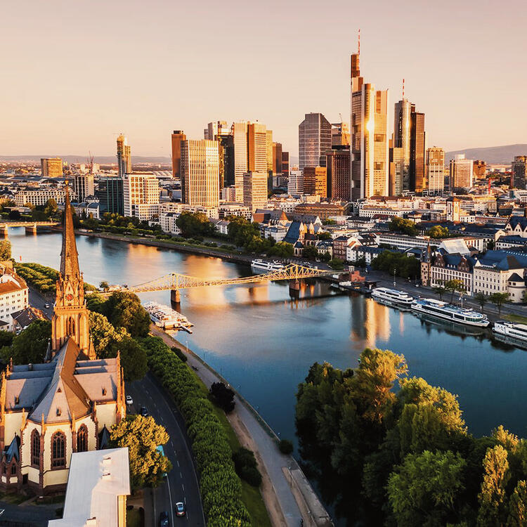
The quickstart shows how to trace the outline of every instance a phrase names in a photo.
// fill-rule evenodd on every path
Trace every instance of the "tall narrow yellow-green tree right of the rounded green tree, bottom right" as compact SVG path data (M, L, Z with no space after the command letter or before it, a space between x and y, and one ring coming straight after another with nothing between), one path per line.
M502 445L488 448L483 460L483 481L479 499L479 525L501 527L507 519L505 489L510 478L507 450Z

